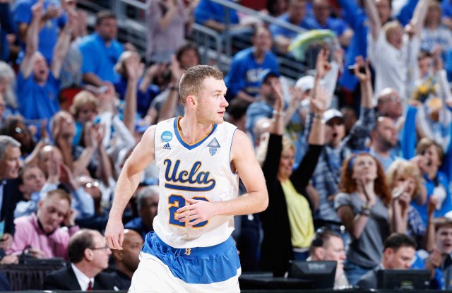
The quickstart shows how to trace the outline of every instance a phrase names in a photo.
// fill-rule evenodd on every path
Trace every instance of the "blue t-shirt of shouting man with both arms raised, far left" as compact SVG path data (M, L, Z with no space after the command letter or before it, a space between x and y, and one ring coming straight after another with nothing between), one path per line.
M59 80L49 72L47 83L38 85L33 73L24 78L19 71L17 78L17 97L19 112L25 119L50 119L59 111Z

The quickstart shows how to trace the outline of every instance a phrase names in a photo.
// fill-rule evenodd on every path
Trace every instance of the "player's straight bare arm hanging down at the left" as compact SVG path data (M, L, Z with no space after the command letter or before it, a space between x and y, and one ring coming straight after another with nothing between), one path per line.
M119 174L112 209L105 228L105 239L111 249L122 249L124 239L122 213L140 183L143 169L154 160L154 133L155 126L145 131L140 143L133 149Z

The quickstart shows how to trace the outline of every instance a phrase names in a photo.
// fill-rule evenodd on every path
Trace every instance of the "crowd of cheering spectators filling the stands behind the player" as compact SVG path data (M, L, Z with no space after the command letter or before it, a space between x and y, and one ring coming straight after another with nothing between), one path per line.
M332 32L293 83L278 56L295 60L297 32L209 0L145 2L138 52L112 11L89 33L74 0L0 0L0 264L61 258L44 289L129 288L158 169L141 174L122 251L102 237L115 182L150 125L184 115L198 23L251 43L225 72L227 121L249 135L269 194L266 211L236 217L242 270L337 261L335 288L375 288L376 270L422 268L452 289L451 1L263 1L280 22Z

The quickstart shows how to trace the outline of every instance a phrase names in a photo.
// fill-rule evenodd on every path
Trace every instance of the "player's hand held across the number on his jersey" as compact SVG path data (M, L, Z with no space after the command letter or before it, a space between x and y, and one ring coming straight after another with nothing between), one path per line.
M188 227L210 220L215 215L213 203L196 199L187 199L186 202L189 204L179 208L174 218L180 222L186 222Z

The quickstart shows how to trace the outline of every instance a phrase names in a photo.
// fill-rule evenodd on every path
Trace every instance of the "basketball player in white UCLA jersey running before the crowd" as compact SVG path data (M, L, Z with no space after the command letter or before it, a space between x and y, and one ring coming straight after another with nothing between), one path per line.
M187 69L179 83L184 117L148 128L119 175L105 231L112 249L121 249L121 215L141 172L153 160L160 167L155 232L129 292L240 291L232 216L265 210L268 193L249 139L223 122L226 90L217 69ZM248 193L237 197L239 177Z

